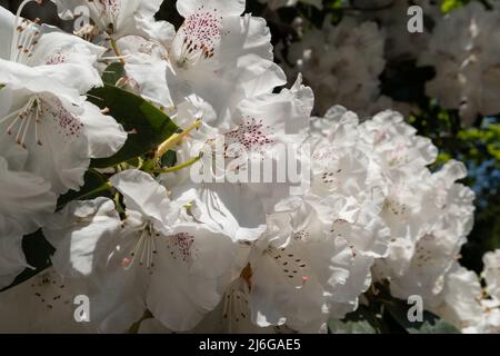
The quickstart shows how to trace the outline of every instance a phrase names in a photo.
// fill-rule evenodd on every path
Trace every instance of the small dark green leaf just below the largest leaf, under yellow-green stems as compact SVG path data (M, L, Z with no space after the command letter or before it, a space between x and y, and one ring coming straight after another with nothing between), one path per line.
M98 171L89 170L86 172L83 187L79 191L70 190L59 197L58 210L73 200L90 200L102 196L111 198L108 180Z

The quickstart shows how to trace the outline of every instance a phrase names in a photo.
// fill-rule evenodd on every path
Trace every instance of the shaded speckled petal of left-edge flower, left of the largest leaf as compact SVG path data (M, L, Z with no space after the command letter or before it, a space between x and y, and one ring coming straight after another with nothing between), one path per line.
M31 97L21 95L21 98L26 99L21 100L19 106L26 105ZM43 177L52 185L54 192L78 190L83 184L83 175L90 164L88 140L78 119L81 108L50 95L38 98L39 105L33 107L27 118L22 120L12 118L0 123L0 131L6 132L12 121L18 121L12 127L11 135L3 134L0 147L8 152L13 151L13 146L24 150L27 158L23 170ZM11 108L13 109L16 107ZM21 147L20 144L24 146ZM8 157L9 161L13 158Z

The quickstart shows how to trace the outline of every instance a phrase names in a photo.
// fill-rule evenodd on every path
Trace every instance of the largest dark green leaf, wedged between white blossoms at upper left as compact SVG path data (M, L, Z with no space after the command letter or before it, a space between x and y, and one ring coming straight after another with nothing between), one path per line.
M110 158L92 160L91 167L112 167L146 155L179 130L160 109L123 89L106 85L93 89L89 100L101 109L108 108L109 115L130 132L119 152Z

